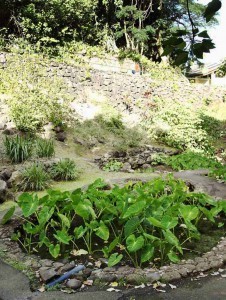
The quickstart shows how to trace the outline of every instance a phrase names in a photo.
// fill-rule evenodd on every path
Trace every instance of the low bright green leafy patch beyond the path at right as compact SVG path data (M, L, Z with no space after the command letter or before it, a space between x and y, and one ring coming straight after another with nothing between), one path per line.
M202 153L186 151L182 154L169 156L166 164L174 170L197 170L220 167L221 164L214 158L210 158Z

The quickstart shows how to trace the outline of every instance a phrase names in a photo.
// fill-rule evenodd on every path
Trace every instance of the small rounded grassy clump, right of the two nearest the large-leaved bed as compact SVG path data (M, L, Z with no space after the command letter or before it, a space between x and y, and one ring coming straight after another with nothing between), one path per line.
M76 164L69 158L61 159L51 169L51 176L54 180L75 180L78 177Z

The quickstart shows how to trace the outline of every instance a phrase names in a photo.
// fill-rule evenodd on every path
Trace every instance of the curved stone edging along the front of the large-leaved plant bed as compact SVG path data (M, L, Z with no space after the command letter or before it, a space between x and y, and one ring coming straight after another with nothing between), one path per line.
M18 226L18 220L16 219L13 219L10 224L0 225L0 252L4 253L7 261L23 262L25 268L32 269L40 285L46 284L56 276L71 270L78 263L76 261L69 262L67 259L60 261L40 259L36 255L25 254L19 244L11 240L11 235L16 226ZM115 281L129 285L148 284L156 281L171 282L222 267L224 264L226 264L226 237L222 237L211 251L201 257L181 260L178 264L162 266L159 269L153 267L140 269L129 266L110 268L107 267L107 260L105 259L99 259L96 263L89 262L85 264L85 270L73 276L73 281L69 279L66 282L66 286L79 289L83 284L87 286L107 285Z

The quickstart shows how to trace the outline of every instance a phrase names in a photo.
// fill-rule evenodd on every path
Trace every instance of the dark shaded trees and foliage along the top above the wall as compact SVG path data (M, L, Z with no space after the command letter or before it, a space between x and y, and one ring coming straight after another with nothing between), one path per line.
M62 45L82 41L107 50L117 51L118 46L144 53L157 62L165 48L163 54L178 65L202 58L203 52L214 47L207 32L199 28L213 23L221 7L220 0L212 0L207 7L194 0L2 2L3 44L23 37L24 48L30 49L32 43L38 51L49 48L49 53L56 54Z

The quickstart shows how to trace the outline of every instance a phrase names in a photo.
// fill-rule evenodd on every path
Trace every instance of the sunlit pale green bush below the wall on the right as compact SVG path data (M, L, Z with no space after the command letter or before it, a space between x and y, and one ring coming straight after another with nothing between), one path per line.
M151 138L182 150L210 147L199 110L193 103L156 99L155 109L149 113L146 127Z

